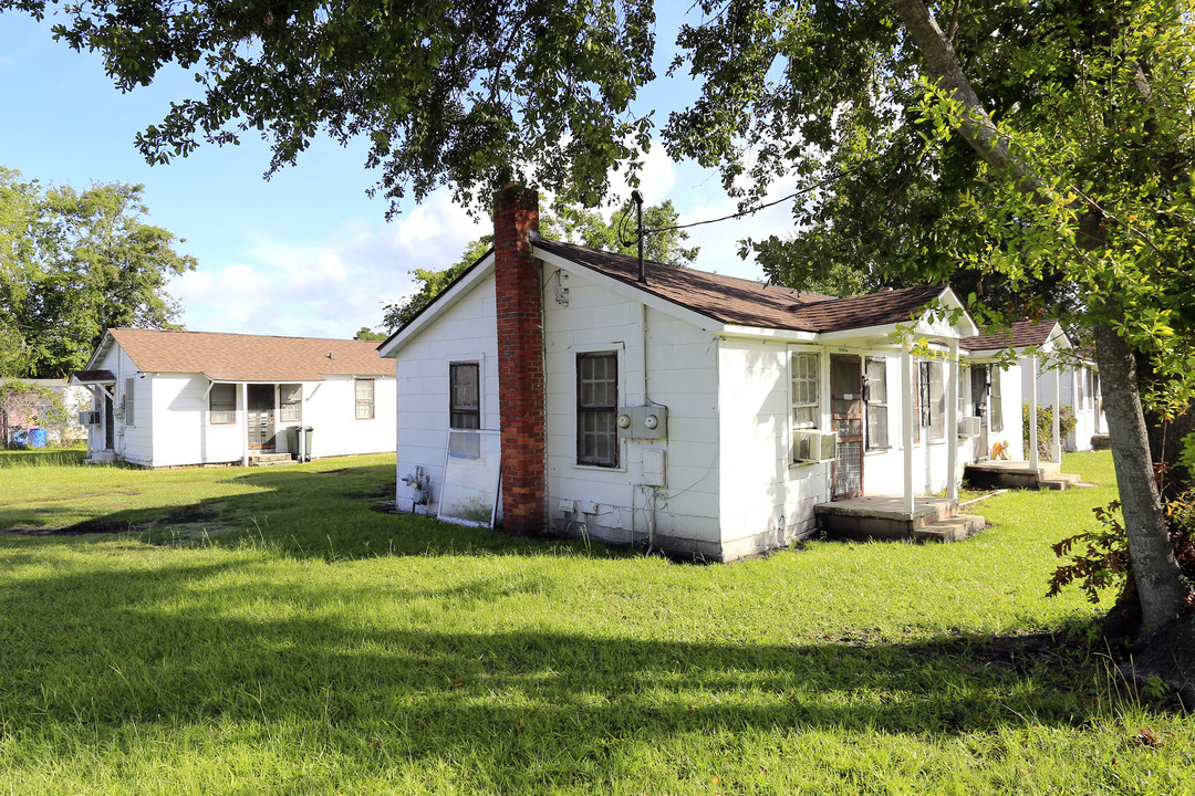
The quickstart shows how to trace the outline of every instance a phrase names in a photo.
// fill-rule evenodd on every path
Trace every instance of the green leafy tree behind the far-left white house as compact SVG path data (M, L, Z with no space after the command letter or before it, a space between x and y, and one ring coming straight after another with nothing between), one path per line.
M170 327L166 280L195 267L145 222L142 186L44 187L0 168L0 372L62 377L104 329Z

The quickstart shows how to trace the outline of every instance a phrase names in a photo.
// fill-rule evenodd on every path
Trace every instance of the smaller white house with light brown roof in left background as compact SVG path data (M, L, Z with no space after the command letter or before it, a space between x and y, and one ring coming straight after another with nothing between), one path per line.
M109 329L86 370L87 461L142 467L240 463L394 450L394 377L369 340ZM302 438L299 438L302 444Z

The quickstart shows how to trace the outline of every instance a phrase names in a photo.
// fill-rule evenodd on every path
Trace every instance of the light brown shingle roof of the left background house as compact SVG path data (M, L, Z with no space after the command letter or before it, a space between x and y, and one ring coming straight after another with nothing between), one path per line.
M204 374L229 382L317 382L324 376L391 372L375 340L163 329L109 333L142 372Z

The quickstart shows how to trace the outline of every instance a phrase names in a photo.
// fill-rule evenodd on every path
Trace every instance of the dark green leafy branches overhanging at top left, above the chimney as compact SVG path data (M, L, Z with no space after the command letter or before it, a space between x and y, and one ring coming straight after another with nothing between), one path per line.
M6 8L37 16L44 2ZM147 161L255 131L272 173L320 134L366 136L391 212L441 185L484 209L511 179L593 205L612 168L637 165L627 142L651 129L631 110L655 76L650 0L96 0L57 13L55 35L98 51L123 90L168 63L194 72L198 93L137 136Z

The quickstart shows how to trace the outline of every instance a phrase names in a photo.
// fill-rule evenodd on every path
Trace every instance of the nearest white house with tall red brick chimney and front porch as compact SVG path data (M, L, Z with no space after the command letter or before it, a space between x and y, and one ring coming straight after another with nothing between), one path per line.
M926 309L960 309L949 288L829 298L641 274L537 227L534 192L503 191L495 249L380 346L400 507L473 489L486 522L501 458L507 529L727 561L810 533L817 504L955 494L974 450L952 411L969 400L958 340L976 328Z

